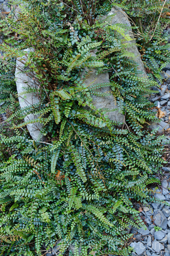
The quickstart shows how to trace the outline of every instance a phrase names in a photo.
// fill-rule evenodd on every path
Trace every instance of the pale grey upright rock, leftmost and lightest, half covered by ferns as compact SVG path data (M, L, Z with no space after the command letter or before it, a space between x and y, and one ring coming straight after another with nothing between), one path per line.
M30 51L33 51L32 49L28 48L25 49L24 52L28 54ZM24 55L22 58L18 57L16 61L16 70L15 70L15 77L16 77L16 86L17 86L17 92L18 92L18 100L21 109L26 108L28 106L32 106L34 104L39 104L39 98L36 93L28 91L29 89L36 89L38 84L36 83L36 79L34 77L34 73L28 73L23 72L24 71L24 63L27 60L27 55ZM34 79L33 79L34 78ZM34 120L38 118L38 115L34 114L28 114L24 121L28 122L29 120ZM40 129L42 128L42 125L40 123L33 123L28 124L27 129L29 130L29 133L33 140L38 141L44 140L44 136L40 134Z

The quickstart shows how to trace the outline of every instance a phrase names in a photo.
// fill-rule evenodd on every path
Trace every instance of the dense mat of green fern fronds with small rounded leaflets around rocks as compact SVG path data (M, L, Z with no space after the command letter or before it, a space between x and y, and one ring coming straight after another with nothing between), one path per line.
M128 227L143 225L133 201L153 201L148 185L159 183L163 146L145 126L155 119L146 94L156 75L140 78L125 51L125 28L96 18L111 2L32 0L17 20L6 19L10 30L0 46L1 113L8 109L0 129L1 255L44 255L58 239L59 255L79 255L80 248L83 256L131 254ZM40 103L21 110L9 70L30 47L25 72L35 75ZM83 71L94 69L109 73L108 94L124 124L92 104L96 89L108 86L84 83ZM29 137L23 118L30 113L37 114L29 122L43 125L46 141ZM67 251L71 244L74 253Z

